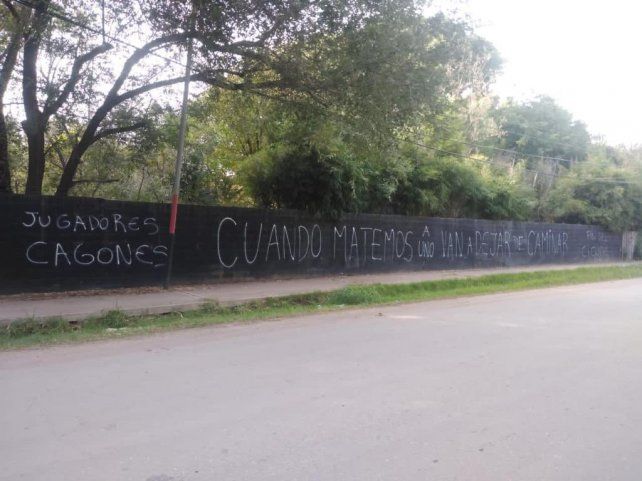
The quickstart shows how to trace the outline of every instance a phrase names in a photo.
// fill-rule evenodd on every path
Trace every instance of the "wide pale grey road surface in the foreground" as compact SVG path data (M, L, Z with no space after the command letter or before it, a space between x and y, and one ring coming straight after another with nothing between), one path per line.
M642 280L0 353L0 479L637 481Z

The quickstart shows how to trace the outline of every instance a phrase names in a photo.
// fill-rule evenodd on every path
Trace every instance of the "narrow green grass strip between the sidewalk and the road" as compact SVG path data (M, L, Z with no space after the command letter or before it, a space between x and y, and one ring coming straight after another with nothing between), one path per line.
M206 305L186 312L133 316L112 311L82 322L21 320L0 327L0 350L111 339L230 322L275 319L319 311L426 301L642 277L642 264L489 274L408 284L351 285L327 292L275 297L233 307Z

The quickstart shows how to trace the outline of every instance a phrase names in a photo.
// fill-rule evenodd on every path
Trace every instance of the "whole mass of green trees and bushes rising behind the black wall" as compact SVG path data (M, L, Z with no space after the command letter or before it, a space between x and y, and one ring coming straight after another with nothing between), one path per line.
M0 94L21 104L0 112L0 192L166 201L191 41L186 202L642 228L642 148L492 97L493 46L421 2L114 1L107 37L82 27L95 2L32 3L0 4Z

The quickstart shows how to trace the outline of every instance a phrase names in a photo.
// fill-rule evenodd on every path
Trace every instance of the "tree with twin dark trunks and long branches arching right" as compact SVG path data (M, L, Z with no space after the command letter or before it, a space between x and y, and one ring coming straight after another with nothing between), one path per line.
M110 2L107 7L112 36L114 32L120 37L153 33L143 46L127 54L120 70L113 70L109 60L114 46L77 27L98 13L91 2L34 1L22 55L29 193L42 191L52 119L71 115L78 126L59 176L58 195L67 195L76 185L83 157L94 144L142 127L142 121L122 112L140 110L136 104L145 94L185 80L183 73L174 74L170 64L154 64L158 53L176 54L191 41L195 62L187 77L192 81L226 90L318 100L330 89L344 91L350 79L335 76L328 82L328 78L319 81L318 76L309 75L314 61L302 53L303 47L358 31L364 22L419 15L419 5L411 0L162 0ZM65 15L75 15L73 23L66 22ZM140 29L141 23L149 28ZM39 68L43 61L66 68ZM43 77L43 71L53 75ZM108 87L96 91L99 85ZM88 118L74 116L78 111L89 112Z

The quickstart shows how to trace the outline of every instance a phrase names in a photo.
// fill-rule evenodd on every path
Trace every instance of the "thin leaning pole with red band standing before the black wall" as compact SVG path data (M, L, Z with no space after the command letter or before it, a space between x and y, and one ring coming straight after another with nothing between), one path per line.
M169 287L169 283L172 278L172 264L174 263L174 245L176 244L176 218L178 217L178 196L181 190L181 170L183 168L183 153L185 151L185 131L187 130L187 101L189 98L189 77L191 73L192 38L190 37L187 44L187 64L185 65L185 84L183 85L183 105L181 106L181 124L178 131L178 148L176 150L174 186L172 188L172 208L169 217L169 256L167 259L165 289Z

